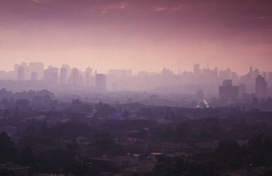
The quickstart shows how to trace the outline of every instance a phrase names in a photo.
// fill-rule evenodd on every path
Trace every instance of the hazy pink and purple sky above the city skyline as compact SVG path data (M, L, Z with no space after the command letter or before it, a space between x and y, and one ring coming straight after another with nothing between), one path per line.
M174 73L272 71L272 1L0 0L0 70L15 63ZM180 61L180 62L179 62ZM179 64L180 63L180 64Z

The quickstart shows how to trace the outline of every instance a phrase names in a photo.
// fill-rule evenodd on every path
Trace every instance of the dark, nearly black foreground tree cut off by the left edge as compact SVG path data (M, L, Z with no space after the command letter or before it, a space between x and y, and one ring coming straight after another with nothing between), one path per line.
M15 143L10 140L6 132L0 135L0 159L13 159L16 154Z

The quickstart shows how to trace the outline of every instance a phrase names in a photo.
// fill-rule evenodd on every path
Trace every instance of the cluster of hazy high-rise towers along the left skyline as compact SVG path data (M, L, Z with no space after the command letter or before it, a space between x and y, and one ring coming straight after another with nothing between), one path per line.
M63 64L61 68L49 65L44 69L42 62L30 62L27 65L22 62L21 65L14 65L14 72L17 73L17 80L43 80L53 84L72 85L72 86L93 86L97 91L106 91L106 75L93 72L93 69L88 67L85 71L77 68L70 68L69 65Z

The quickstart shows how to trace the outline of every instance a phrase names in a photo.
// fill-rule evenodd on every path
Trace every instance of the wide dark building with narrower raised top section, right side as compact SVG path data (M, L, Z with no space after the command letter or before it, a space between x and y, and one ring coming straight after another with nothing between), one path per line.
M239 86L232 86L232 80L224 80L219 86L219 99L230 100L239 98Z

